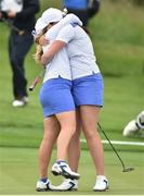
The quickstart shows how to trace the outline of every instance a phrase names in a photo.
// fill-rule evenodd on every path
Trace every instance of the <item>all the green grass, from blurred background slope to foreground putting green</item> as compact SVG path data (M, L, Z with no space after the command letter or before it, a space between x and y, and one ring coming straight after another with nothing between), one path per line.
M62 2L41 0L41 11L50 7L62 8ZM102 1L100 13L89 24L105 84L104 108L100 123L110 139L144 140L143 131L132 137L122 136L125 125L144 109L143 21L142 8L132 7L127 0L116 3L106 0ZM0 24L0 194L36 195L37 154L43 130L39 102L40 84L29 93L27 107L12 108L12 72L8 58L8 37L9 27ZM35 46L26 59L28 86L41 70L31 58L34 52ZM104 138L103 135L102 138ZM135 171L122 173L121 166L110 146L104 145L105 171L110 181L110 189L101 195L143 195L144 147L116 146L116 148L128 166L135 167ZM84 144L82 149L87 149ZM52 162L54 157L55 151ZM95 195L91 192L95 173L87 150L82 150L79 172L81 173L79 192L69 194ZM50 177L54 183L61 182L61 177L56 179L51 174ZM43 194L48 195L48 193Z

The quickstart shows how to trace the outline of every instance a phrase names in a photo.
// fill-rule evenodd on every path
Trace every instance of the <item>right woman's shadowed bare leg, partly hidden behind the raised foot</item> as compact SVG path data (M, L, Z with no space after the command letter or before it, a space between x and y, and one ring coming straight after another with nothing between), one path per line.
M76 113L76 132L73 135L69 146L68 146L68 163L73 171L78 171L78 163L80 158L80 133L81 133L81 123L80 123L80 113L77 110Z

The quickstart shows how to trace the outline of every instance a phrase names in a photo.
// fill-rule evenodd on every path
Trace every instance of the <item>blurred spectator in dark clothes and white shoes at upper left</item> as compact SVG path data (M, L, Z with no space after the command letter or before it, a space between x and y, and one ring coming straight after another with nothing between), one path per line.
M13 107L23 107L28 102L27 79L24 61L34 38L35 14L39 11L39 0L1 0L0 17L9 23L9 57L13 73Z

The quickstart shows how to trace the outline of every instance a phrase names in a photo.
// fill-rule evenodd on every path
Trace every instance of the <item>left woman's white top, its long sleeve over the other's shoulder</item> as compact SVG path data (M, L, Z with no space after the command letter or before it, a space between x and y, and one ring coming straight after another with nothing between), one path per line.
M69 23L77 23L82 25L79 17L74 14L68 14L65 19L63 19L47 32L45 38L49 39L50 45L43 47L43 52L49 50L49 47L56 38L58 32ZM58 53L56 53L52 61L47 65L43 83L50 78L56 78L58 76L71 81L71 71L66 48L63 48Z

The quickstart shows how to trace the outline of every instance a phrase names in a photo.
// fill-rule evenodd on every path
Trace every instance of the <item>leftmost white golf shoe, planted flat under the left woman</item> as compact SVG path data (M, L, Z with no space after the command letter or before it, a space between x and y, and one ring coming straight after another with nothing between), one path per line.
M37 186L36 186L36 191L37 192L49 192L49 191L56 191L56 186L53 186L51 184L51 181L50 180L47 180L47 182L42 182L41 180L39 180L37 182Z

